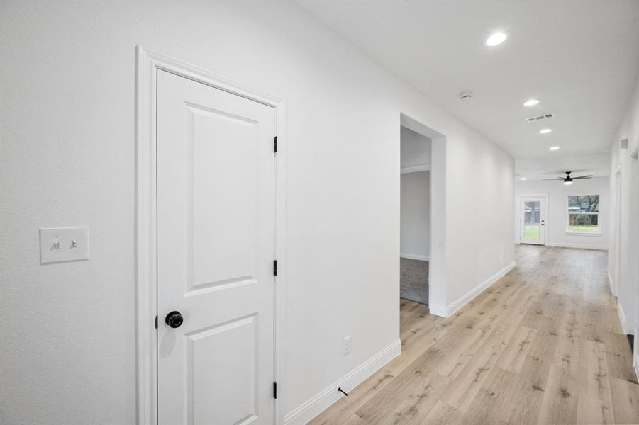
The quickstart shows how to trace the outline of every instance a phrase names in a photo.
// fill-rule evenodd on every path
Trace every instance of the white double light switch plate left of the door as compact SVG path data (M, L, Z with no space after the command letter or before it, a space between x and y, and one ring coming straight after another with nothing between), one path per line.
M40 229L40 263L89 259L89 227Z

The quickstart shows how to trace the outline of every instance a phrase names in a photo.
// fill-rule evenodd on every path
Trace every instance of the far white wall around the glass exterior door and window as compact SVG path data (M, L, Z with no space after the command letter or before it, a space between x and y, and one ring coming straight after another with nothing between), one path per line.
M575 174L579 176L579 174ZM608 249L610 188L608 177L575 180L570 186L561 181L518 181L515 184L515 242L521 239L521 197L530 194L548 194L546 200L546 244L572 248ZM569 234L568 196L599 195L599 229L601 234Z

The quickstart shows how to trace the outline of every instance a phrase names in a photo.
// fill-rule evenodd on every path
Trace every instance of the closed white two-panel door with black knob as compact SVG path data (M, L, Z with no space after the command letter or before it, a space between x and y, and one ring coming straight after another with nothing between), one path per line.
M274 132L274 108L158 71L159 424L274 423Z

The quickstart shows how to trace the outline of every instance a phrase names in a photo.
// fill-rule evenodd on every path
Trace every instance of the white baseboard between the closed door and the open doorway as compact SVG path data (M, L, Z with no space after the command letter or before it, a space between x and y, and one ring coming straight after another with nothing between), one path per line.
M331 404L344 397L338 392L338 387L342 387L346 392L352 390L400 354L401 340L398 339L339 380L333 382L326 389L302 403L301 406L286 414L284 416L284 425L303 425L311 421L315 416L328 409Z

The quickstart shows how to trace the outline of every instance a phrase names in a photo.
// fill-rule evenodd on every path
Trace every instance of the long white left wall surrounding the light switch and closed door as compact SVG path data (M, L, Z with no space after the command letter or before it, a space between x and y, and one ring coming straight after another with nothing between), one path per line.
M509 154L294 4L0 11L3 424L135 421L138 43L287 101L286 412L399 339L400 113L446 135L446 287L433 302L513 261ZM90 227L91 259L40 266L38 228L71 225Z

